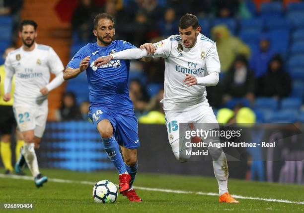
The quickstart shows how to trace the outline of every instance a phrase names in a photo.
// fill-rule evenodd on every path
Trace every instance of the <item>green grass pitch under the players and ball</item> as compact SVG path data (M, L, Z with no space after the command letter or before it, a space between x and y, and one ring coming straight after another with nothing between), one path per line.
M279 203L261 200L237 199L239 204L223 204L217 196L199 195L196 192L218 193L215 178L180 175L138 173L135 186L143 203L131 203L119 195L114 204L96 204L91 198L93 184L110 180L118 184L116 172L72 172L58 169L41 169L51 179L72 180L70 183L49 181L37 189L31 180L12 179L0 176L0 203L31 203L34 209L27 212L56 213L196 213L196 212L304 212L303 204ZM0 170L3 174L3 170ZM28 171L27 171L27 174ZM73 182L76 181L76 182ZM230 194L304 202L304 186L275 183L248 182L229 179ZM189 193L152 191L152 189L182 190ZM136 189L136 187L135 187ZM2 209L1 209L2 208ZM0 212L10 212L0 208ZM20 210L18 210L20 211ZM11 212L16 212L12 210Z

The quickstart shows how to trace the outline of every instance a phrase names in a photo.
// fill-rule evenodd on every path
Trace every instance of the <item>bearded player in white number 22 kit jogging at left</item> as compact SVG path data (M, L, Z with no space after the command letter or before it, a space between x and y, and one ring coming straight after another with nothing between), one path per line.
M23 20L19 28L23 45L10 52L5 59L4 101L9 101L12 77L15 75L13 110L24 137L21 158L17 161L16 173L21 171L24 159L37 187L48 178L39 172L35 149L45 130L48 116L48 94L64 82L64 66L52 47L37 44L37 23ZM56 77L50 82L50 72Z

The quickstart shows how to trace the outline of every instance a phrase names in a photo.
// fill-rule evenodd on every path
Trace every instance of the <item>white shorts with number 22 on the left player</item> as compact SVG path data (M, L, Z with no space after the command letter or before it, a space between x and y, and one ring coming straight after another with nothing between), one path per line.
M13 106L15 119L21 132L34 130L35 136L41 138L48 117L48 103L40 106Z

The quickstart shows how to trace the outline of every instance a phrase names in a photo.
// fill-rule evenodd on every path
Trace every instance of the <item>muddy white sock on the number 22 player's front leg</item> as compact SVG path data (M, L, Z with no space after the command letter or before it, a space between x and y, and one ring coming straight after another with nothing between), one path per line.
M38 161L35 153L34 143L24 143L22 155L24 156L27 166L30 169L33 177L36 177L40 172L38 168Z

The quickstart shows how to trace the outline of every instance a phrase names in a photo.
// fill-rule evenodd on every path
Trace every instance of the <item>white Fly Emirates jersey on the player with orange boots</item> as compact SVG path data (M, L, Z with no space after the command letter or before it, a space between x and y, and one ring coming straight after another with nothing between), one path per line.
M179 35L172 35L154 44L154 57L165 59L163 109L187 111L191 106L209 106L206 87L188 87L183 80L186 74L204 77L207 71L221 72L216 43L203 34L197 36L192 48L185 48Z

